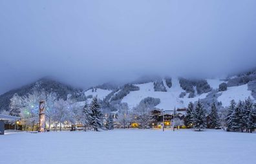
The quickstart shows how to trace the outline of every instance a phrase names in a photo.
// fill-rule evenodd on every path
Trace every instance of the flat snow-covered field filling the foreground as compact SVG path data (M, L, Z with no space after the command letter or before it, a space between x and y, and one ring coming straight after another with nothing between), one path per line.
M19 132L0 136L0 163L255 163L256 134L190 129Z

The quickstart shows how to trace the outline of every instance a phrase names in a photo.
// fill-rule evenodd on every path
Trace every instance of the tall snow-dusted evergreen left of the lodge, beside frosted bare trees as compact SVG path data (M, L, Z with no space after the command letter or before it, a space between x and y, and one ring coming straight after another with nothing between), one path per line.
M90 109L92 112L91 113L91 117L92 117L91 125L94 128L94 131L98 131L98 129L102 128L102 118L103 118L103 115L100 110L100 105L98 103L98 98L96 98L96 97L92 98L92 103L90 105Z

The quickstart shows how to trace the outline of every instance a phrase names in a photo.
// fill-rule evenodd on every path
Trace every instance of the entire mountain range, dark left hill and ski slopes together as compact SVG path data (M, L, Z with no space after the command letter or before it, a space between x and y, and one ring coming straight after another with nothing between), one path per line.
M196 102L199 99L208 110L212 102L220 109L224 109L232 99L237 102L251 96L256 100L256 69L221 79L142 77L127 84L105 83L90 87L86 91L49 78L41 78L37 82L1 95L0 109L8 109L14 93L23 96L31 93L33 89L55 92L63 99L66 99L67 95L72 95L81 103L84 101L83 97L90 103L92 97L97 96L101 107L107 111L117 111L122 107L149 107L167 111L175 107L187 107L189 102Z

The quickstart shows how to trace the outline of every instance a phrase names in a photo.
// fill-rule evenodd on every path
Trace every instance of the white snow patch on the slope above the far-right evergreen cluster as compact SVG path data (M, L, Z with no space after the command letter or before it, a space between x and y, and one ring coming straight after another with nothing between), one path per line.
M224 107L228 107L230 101L233 99L235 102L238 102L239 100L248 98L248 96L252 98L251 91L248 90L247 84L242 86L228 87L227 91L222 91L220 93L222 93L222 95L218 97L218 101L221 101Z

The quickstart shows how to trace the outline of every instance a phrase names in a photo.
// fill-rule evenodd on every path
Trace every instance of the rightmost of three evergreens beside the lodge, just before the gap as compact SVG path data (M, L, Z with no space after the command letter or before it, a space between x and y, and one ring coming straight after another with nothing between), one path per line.
M211 113L209 114L208 125L209 125L209 128L212 128L212 129L220 127L219 114L214 102L211 105Z

